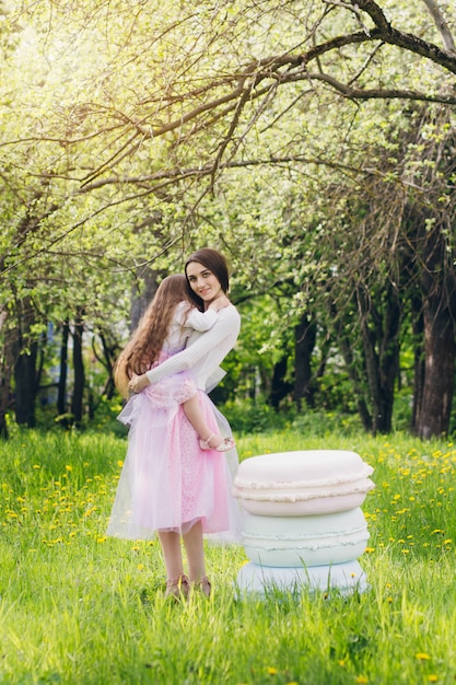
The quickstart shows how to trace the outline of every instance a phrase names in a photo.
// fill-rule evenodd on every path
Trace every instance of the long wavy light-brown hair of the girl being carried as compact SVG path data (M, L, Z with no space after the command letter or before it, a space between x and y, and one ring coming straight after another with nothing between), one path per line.
M183 274L166 276L114 368L114 381L122 397L128 397L128 382L132 375L145 373L159 359L174 310L183 301L188 302L189 312L194 302L186 277Z

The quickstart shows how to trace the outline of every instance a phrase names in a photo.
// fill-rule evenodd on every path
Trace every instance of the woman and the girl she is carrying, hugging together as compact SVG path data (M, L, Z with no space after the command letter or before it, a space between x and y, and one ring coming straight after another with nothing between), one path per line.
M157 533L166 594L176 597L192 587L211 592L203 534L238 539L231 495L237 454L207 393L224 375L220 363L236 342L241 317L226 297L221 253L194 253L185 278L163 281L116 365L117 387L133 394L119 416L129 426L129 444L107 531L128 539Z

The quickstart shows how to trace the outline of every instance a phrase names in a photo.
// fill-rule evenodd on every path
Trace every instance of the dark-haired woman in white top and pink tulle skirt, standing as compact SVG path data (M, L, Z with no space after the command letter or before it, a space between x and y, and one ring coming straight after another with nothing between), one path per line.
M215 249L194 253L187 259L185 274L189 293L201 311L215 300L226 298L227 266L223 255ZM191 370L210 429L230 436L227 421L207 393L223 378L219 364L234 347L239 327L236 309L231 303L223 306L209 330L194 332L185 350L132 378L130 391L141 393L151 383ZM130 440L131 450L120 476L108 534L137 539L151 537L157 532L166 566L167 594L179 596L194 585L209 595L211 585L206 576L202 536L215 534L215 537L229 541L238 537L237 503L231 495L237 454L235 450L224 454L201 450L198 434L185 417L182 405L175 407L171 421L169 425L169 414L164 414L161 436L148 432L145 420L139 423ZM162 445L163 441L165 449L154 451L154 445ZM144 453L148 454L147 462ZM138 454L142 455L141 460ZM227 460L231 460L231 468ZM136 468L139 462L140 473ZM180 536L187 555L188 579L184 573Z

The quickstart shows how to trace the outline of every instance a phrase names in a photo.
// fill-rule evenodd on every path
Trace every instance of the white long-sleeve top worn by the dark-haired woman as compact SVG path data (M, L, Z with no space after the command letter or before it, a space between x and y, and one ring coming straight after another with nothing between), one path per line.
M185 350L147 372L150 383L190 369L197 387L209 392L224 376L220 363L233 349L239 330L241 316L236 307L230 304L219 310L217 321L209 330L194 330Z

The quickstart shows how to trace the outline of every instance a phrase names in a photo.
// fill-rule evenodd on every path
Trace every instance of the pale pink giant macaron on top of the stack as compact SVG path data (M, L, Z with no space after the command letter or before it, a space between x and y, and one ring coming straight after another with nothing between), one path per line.
M239 464L234 495L261 516L303 516L361 507L374 487L372 466L355 452L313 450L262 454Z

